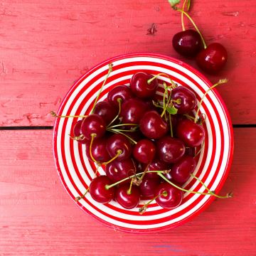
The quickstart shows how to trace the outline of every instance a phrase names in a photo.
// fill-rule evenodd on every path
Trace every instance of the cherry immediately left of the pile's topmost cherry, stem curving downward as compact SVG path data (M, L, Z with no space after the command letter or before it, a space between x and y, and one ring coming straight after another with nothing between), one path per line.
M117 107L119 106L118 99L121 99L121 102L125 102L132 97L134 97L132 95L132 90L126 85L115 86L107 94L107 100Z

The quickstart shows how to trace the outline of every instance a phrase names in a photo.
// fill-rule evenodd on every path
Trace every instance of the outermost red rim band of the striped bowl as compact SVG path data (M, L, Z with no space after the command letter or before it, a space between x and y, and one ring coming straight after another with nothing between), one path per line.
M66 92L65 96L63 97L62 102L60 103L60 106L58 107L58 114L60 114L60 110L63 108L63 105L65 103L65 99L68 97L68 95L70 94L70 92L73 90L74 87L77 87L80 82L82 82L82 80L85 78L85 76L90 75L90 73L95 72L95 70L97 70L97 68L99 68L102 65L107 65L109 63L112 63L116 60L122 60L125 58L136 58L136 57L149 57L149 58L160 58L160 59L164 59L164 60L169 60L172 63L176 63L178 65L181 65L183 68L186 68L188 70L190 70L192 73L194 73L196 76L198 76L198 78L200 78L201 80L203 80L203 82L208 85L210 87L210 85L212 85L212 82L210 82L210 80L208 80L208 78L206 78L205 75L203 75L202 73L200 73L198 70L196 70L196 68L193 68L191 65L188 65L187 63L184 63L182 60L178 60L176 58L173 58L171 56L168 55L163 55L163 54L159 54L159 53L148 53L148 52L140 52L140 53L126 53L126 54L122 54L122 55L117 55L115 57L109 58L107 60L104 60L100 63L98 63L97 65L93 66L92 68L90 68L89 70L87 70L83 75L80 76L80 78L78 78L78 80L75 80L75 82L73 83L73 85L70 86L68 92ZM228 132L230 134L230 139L229 139L229 143L230 143L230 151L228 154L228 159L227 159L227 166L225 168L225 172L223 173L223 176L220 180L220 182L218 183L218 190L217 192L220 191L221 188L223 188L223 185L225 183L225 180L228 178L228 174L230 172L230 167L232 165L232 161L233 161L233 151L234 151L234 134L233 134L233 125L232 125L232 121L230 118L230 114L228 112L228 108L225 105L225 102L223 101L223 98L220 96L219 92L213 88L212 90L216 97L218 98L218 100L220 101L221 106L223 107L223 112L225 113L225 117L228 121ZM60 178L61 183L63 184L63 187L65 188L65 191L68 193L68 195L72 198L72 200L75 202L74 200L74 196L72 193L70 193L68 191L68 188L65 186L65 183L63 182L63 178L60 176L61 170L58 167L58 154L57 151L55 150L55 142L57 139L57 133L58 133L58 118L55 118L55 122L54 122L54 126L53 126L53 140L52 140L52 145L53 145L53 157L54 157L54 161L55 161L55 169L58 172L58 176ZM193 213L191 213L191 215L188 215L186 218L183 218L182 220L179 220L176 223L172 223L163 227L159 227L159 228L149 228L149 229L133 229L133 228L124 228L118 225L114 225L111 223L108 223L106 220L103 220L100 217L97 217L95 215L93 215L92 213L90 213L89 210L84 210L82 205L80 205L80 203L75 202L75 204L83 211L86 212L88 215L90 215L94 220L97 220L98 222L107 225L107 227L109 228L113 228L114 230L120 230L126 233L158 233L158 232L162 232L162 231L166 231L166 230L170 230L172 228L176 228L180 225L183 225L184 223L187 223L189 220L192 220L194 217L196 217L198 214L202 213L204 210L206 210L206 208L208 208L208 206L210 206L210 204L215 200L215 197L210 197L208 199L208 201L206 201L206 203L203 204L203 206L201 206L200 208L198 208L196 211L194 211Z

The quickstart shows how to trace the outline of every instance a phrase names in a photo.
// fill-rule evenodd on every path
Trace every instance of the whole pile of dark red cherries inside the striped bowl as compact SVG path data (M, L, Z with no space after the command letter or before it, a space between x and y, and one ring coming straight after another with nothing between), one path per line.
M195 147L205 130L198 111L193 115L195 93L170 79L159 98L159 75L135 73L129 86L113 87L105 101L96 99L92 114L73 127L72 139L85 144L87 158L105 166L105 175L95 175L89 187L97 202L115 200L130 209L147 199L176 208L183 200L182 185L196 169Z

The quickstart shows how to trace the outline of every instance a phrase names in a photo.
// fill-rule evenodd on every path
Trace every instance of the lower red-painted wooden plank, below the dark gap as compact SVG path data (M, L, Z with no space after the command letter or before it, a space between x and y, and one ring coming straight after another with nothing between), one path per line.
M255 255L256 129L235 129L222 193L189 223L159 234L121 233L70 200L55 171L52 131L0 131L0 255Z

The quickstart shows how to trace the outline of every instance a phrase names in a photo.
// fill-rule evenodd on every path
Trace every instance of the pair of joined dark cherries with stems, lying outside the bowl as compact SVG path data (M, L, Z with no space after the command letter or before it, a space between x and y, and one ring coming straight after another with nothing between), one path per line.
M174 49L185 57L196 57L198 66L207 73L218 73L224 67L228 59L228 53L225 47L220 43L210 43L210 45L206 46L203 36L191 16L189 16L186 11L183 11L183 9L177 9L176 6L173 8L177 11L181 11L182 17L183 14L185 14L196 28L196 30L186 30L182 19L183 31L176 33L172 40Z

